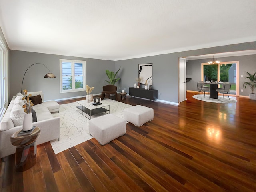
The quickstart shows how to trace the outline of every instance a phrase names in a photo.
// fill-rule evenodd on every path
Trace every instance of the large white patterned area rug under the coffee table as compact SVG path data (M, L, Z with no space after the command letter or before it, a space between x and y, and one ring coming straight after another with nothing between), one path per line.
M105 98L102 104L110 105L110 113L123 118L123 110L132 105ZM60 112L52 113L54 117L60 117L60 141L52 140L52 148L57 154L68 148L76 146L92 138L88 131L89 119L76 111L76 103L60 105ZM99 115L92 116L95 118Z

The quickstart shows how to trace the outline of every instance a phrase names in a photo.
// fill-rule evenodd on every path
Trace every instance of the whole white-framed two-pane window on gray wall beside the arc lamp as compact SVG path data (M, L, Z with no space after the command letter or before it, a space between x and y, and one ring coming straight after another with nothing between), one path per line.
M60 93L86 90L86 62L60 59Z

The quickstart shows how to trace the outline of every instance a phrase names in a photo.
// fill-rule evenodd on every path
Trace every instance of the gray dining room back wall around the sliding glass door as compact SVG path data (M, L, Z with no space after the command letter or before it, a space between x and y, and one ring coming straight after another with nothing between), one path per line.
M251 92L250 88L247 86L246 89L243 88L243 84L246 80L245 71L253 74L256 72L256 55L245 55L245 56L232 56L232 57L222 57L218 58L221 62L228 61L239 61L239 95L249 96ZM191 81L187 83L187 90L196 91L196 82L201 80L201 63L207 63L209 59L200 59L200 60L189 60L187 62L187 78L192 78ZM243 77L241 78L241 75ZM244 91L241 92L241 89Z

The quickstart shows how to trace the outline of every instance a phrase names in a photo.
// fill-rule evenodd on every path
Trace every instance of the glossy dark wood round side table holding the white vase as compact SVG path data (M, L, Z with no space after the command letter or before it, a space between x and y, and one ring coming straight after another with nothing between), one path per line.
M22 172L36 164L36 139L40 136L41 130L36 127L30 135L18 136L16 131L11 136L12 145L16 146L15 170Z

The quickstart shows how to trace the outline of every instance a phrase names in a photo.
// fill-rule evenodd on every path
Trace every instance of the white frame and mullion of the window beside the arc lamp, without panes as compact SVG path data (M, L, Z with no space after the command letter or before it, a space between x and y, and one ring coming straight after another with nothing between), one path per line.
M72 78L72 89L63 89L62 82L62 62L71 63L71 78ZM83 77L83 88L75 88L75 63L82 63L82 77ZM70 93L70 92L79 92L86 90L86 61L81 60L70 60L70 59L60 59L60 93Z

